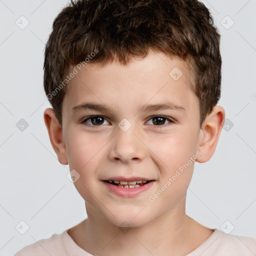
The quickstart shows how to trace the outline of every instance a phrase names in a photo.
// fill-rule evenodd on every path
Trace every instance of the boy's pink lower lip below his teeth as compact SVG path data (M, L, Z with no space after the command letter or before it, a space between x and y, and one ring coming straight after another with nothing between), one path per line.
M107 188L111 192L113 192L119 196L122 196L122 197L134 197L134 196L142 193L143 191L149 189L154 183L154 181L150 181L150 182L148 182L142 186L139 186L139 187L123 188L123 187L112 185L106 181L102 181L102 182L107 186Z

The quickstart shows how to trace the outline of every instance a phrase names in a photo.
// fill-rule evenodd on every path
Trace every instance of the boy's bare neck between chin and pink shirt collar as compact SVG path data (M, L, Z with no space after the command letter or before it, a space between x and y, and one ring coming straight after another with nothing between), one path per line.
M143 226L125 228L85 205L88 217L70 236L92 255L181 256L193 251L212 233L187 216L184 207L172 208Z

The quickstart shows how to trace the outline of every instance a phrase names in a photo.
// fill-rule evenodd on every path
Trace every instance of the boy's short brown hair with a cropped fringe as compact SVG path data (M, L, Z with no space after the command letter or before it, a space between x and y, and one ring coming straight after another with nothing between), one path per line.
M197 0L71 0L45 46L44 90L61 125L70 65L84 63L95 49L89 62L102 66L114 59L126 65L152 49L189 63L201 126L220 97L219 39L209 10Z

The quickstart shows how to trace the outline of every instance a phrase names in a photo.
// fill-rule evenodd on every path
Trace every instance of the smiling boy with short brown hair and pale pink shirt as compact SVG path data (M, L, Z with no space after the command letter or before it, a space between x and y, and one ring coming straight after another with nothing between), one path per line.
M45 48L50 142L87 218L21 255L255 255L185 214L224 123L219 34L196 0L78 0Z

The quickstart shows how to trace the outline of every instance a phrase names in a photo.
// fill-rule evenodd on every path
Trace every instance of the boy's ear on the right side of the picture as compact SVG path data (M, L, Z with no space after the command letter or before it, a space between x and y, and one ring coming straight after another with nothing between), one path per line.
M224 121L224 108L214 106L212 111L206 116L200 129L197 150L201 152L201 155L197 157L197 162L206 162L213 155Z

